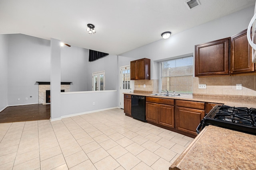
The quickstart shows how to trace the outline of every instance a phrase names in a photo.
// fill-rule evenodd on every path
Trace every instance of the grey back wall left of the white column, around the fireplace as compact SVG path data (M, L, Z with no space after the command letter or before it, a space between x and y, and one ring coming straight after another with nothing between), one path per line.
M8 106L38 103L36 82L50 81L50 41L23 34L8 37Z

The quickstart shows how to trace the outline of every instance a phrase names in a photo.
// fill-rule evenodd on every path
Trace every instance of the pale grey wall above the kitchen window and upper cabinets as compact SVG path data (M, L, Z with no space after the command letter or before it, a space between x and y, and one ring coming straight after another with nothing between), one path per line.
M128 51L120 54L120 56L134 57L136 59L146 57L153 61L158 61L194 53L194 46L197 44L230 37L247 29L253 14L254 6L171 35L169 39L162 39Z

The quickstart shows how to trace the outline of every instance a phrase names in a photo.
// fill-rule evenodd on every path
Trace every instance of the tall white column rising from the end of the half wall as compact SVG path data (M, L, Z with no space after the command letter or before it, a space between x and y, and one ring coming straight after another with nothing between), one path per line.
M60 40L51 38L51 120L61 119Z

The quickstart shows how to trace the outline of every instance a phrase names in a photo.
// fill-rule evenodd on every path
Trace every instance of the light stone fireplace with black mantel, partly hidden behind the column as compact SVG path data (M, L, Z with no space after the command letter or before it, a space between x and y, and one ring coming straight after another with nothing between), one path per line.
M70 83L72 82L61 82L60 83L61 92L70 92ZM46 91L48 91L48 96L46 95ZM48 98L49 96L50 96L50 82L38 82L38 104L50 103L48 101L46 102L46 98Z

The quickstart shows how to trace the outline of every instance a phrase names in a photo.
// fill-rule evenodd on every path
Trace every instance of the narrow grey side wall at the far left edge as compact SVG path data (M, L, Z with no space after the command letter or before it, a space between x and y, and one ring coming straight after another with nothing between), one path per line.
M0 111L8 104L8 35L0 34Z

